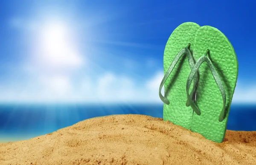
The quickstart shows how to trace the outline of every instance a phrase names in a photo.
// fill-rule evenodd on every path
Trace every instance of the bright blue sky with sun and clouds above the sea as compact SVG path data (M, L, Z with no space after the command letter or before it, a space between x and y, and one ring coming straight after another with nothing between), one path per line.
M0 102L161 103L163 51L184 22L221 30L234 103L256 103L253 0L0 1Z

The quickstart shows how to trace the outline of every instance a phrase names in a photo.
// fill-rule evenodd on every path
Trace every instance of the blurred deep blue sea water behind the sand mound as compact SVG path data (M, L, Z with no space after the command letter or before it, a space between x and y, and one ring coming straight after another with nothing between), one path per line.
M0 142L30 139L84 119L112 114L163 118L163 105L0 105ZM256 131L256 105L231 105L227 129Z

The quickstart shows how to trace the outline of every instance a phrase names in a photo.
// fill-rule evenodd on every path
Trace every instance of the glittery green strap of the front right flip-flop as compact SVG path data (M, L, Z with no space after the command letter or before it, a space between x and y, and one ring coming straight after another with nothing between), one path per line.
M207 62L208 67L210 68L212 75L214 77L214 80L216 82L216 84L218 85L218 88L221 92L221 96L223 99L223 108L221 110L221 114L219 115L219 121L221 122L224 119L224 113L225 113L225 105L226 105L226 92L224 89L224 86L221 82L221 79L218 75L218 72L215 70L211 60L206 56L209 53L209 49L207 50L206 54L202 57L200 57L198 59L198 61L195 63L194 68L192 68L191 73L189 74L188 80L187 80L187 84L186 84L186 92L187 92L187 97L189 100L189 103L191 105L191 107L193 108L193 110L195 111L195 113L197 113L198 115L201 114L200 109L198 108L198 106L192 101L191 97L189 96L189 88L190 85L192 83L193 77L195 76L195 73L198 72L198 69L200 68L201 64L204 62Z

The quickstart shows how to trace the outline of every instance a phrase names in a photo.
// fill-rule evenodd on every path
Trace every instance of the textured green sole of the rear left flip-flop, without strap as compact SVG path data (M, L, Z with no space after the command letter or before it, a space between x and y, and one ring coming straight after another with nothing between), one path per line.
M171 65L177 53L190 43L190 50L193 50L195 32L200 28L196 23L187 22L178 26L169 37L166 43L163 57L164 74ZM169 120L175 125L191 129L193 109L186 106L186 80L191 68L186 55L180 58L172 74L165 83L165 96L170 104L163 105L163 120ZM191 88L192 90L192 88Z

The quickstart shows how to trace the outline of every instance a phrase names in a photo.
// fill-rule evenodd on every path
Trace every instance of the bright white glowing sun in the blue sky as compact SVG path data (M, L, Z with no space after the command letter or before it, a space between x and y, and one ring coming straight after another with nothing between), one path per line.
M39 58L47 65L77 66L81 64L81 56L74 42L72 29L65 23L51 21L41 27Z

